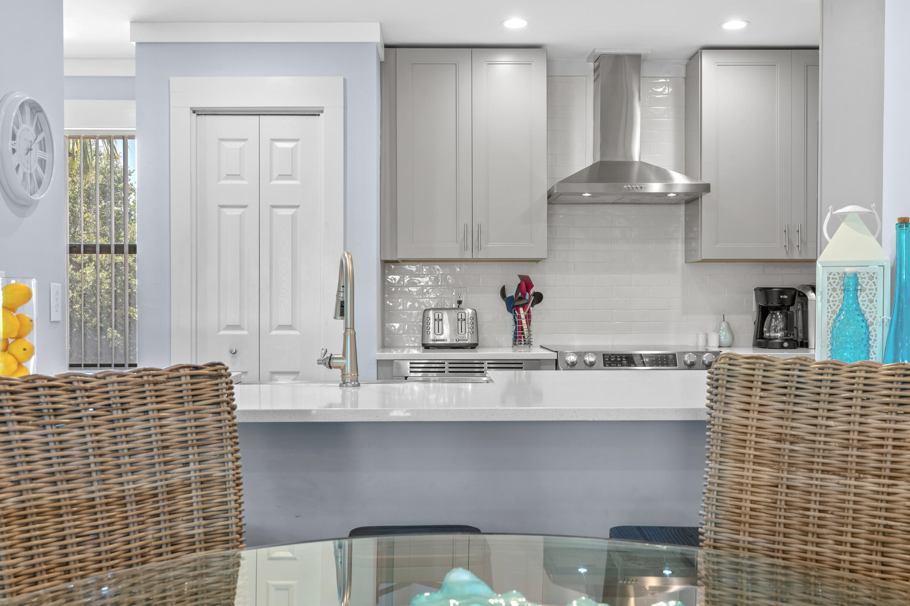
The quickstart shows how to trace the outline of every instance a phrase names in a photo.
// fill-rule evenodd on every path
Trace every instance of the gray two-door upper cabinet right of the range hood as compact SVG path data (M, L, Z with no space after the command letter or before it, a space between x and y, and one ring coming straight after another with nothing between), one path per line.
M687 204L687 262L815 258L817 69L817 51L701 51L689 62L686 174L711 193Z

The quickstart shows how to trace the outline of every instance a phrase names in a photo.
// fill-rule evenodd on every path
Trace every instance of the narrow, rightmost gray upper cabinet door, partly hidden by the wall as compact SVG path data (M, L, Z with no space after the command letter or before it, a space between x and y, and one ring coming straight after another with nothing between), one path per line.
M814 260L818 252L819 55L793 51L793 212L790 258Z

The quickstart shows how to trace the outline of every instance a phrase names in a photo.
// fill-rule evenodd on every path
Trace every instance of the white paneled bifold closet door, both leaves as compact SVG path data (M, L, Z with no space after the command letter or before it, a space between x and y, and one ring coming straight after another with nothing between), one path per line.
M320 276L338 263L322 258L321 120L197 117L198 363L247 382L318 378Z

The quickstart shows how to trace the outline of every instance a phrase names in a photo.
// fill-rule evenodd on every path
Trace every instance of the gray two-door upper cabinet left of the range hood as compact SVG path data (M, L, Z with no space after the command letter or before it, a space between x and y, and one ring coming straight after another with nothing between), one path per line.
M383 257L546 257L546 52L393 55L394 69L383 70L382 149L395 162L383 164L381 212L395 218L383 222Z

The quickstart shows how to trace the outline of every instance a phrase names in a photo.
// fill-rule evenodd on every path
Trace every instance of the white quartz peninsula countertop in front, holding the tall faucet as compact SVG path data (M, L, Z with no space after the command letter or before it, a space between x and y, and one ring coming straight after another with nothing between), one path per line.
M703 421L705 371L494 371L489 383L238 383L239 422Z

